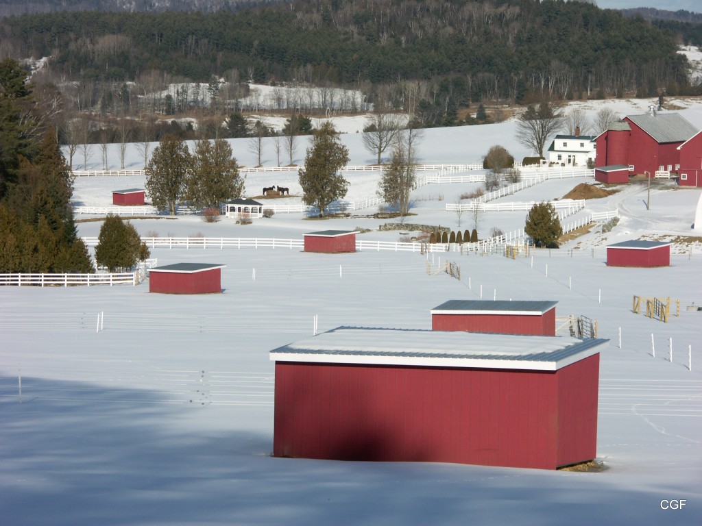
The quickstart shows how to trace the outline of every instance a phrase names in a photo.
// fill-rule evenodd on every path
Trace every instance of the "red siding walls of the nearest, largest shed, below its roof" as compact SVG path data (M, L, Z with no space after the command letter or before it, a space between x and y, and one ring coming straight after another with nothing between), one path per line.
M587 377L572 389L562 371L277 362L273 454L544 469L590 460L596 427L576 433L592 415L565 417L596 410L597 367L574 372ZM562 434L575 443L559 447Z

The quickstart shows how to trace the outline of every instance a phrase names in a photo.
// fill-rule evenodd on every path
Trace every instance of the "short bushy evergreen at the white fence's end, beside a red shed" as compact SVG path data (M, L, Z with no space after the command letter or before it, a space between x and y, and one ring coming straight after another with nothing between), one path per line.
M119 215L108 214L100 227L95 262L110 272L131 269L136 262L149 257L146 243L141 241L134 225L123 222Z

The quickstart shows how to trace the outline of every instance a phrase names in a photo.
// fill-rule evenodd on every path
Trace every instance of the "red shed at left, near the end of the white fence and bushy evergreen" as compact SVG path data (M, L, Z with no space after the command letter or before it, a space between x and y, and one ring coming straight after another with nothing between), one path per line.
M212 294L222 292L221 269L211 263L176 263L149 271L149 292Z

